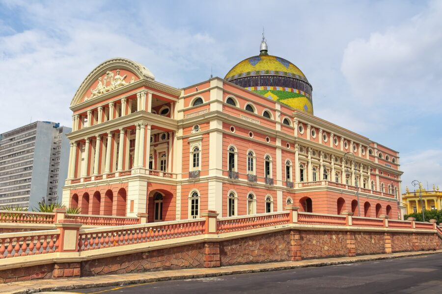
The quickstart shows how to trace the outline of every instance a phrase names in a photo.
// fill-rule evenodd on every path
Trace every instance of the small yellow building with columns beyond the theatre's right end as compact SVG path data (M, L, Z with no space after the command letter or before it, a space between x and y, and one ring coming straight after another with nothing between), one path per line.
M407 209L407 214L422 211L419 198L420 194L422 195L424 209L442 209L442 191L439 191L439 187L436 188L435 185L433 185L433 191L426 191L421 184L420 189L415 189L413 192L410 192L408 187L406 187L406 191L407 193L402 194L402 201Z

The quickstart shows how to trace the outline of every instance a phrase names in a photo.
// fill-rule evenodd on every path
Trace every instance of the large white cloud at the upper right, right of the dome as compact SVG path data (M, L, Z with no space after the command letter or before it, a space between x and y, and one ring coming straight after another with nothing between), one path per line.
M405 103L416 111L440 112L441 48L442 1L433 1L400 25L350 42L341 70L353 94L368 106Z

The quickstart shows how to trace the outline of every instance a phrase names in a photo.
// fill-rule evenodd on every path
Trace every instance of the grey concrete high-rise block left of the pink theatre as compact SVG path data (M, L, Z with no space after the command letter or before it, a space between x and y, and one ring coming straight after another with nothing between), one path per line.
M57 201L67 176L70 131L35 122L0 134L0 209Z

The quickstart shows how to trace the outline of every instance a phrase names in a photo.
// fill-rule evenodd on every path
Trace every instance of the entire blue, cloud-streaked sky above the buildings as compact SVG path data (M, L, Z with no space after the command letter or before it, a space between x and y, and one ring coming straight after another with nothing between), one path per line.
M177 88L269 53L313 86L317 117L400 152L402 188L442 189L442 0L0 0L0 133L71 126L70 101L125 57Z

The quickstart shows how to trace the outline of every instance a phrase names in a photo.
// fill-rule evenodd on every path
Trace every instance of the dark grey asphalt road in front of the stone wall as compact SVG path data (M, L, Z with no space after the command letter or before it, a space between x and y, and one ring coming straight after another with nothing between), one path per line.
M442 294L442 254L140 285L76 290L103 294Z

